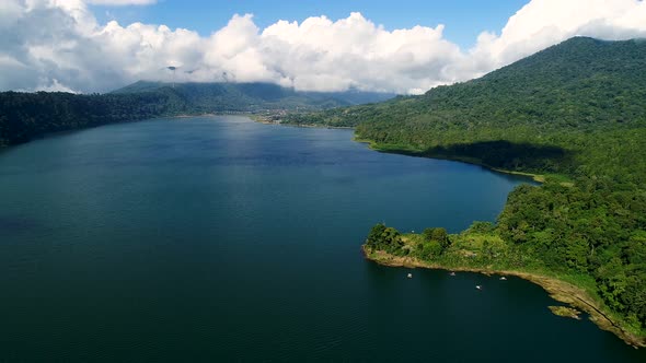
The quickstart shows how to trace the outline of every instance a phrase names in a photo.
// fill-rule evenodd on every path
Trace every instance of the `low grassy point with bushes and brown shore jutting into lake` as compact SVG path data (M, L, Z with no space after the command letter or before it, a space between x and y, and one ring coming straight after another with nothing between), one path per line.
M542 286L552 298L589 314L601 329L633 347L646 347L646 331L635 329L597 294L595 280L582 273L552 271L512 245L505 243L485 224L461 234L448 235L443 229L424 234L400 235L394 229L374 229L362 246L366 258L384 266L470 271L516 276ZM477 231L481 229L481 231Z

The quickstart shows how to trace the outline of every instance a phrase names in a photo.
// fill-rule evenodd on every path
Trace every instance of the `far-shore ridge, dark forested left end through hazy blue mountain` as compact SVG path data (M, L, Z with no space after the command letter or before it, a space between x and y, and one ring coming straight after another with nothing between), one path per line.
M137 82L104 95L4 92L0 93L0 147L49 132L159 116L323 109L390 96L357 91L296 92L267 83L180 83L173 86Z

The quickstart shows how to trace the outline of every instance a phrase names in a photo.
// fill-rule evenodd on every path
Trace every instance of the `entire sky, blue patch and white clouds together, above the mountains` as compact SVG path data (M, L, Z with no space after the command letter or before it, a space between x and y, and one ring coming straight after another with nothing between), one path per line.
M172 79L419 94L573 36L646 38L646 1L0 0L0 91Z

